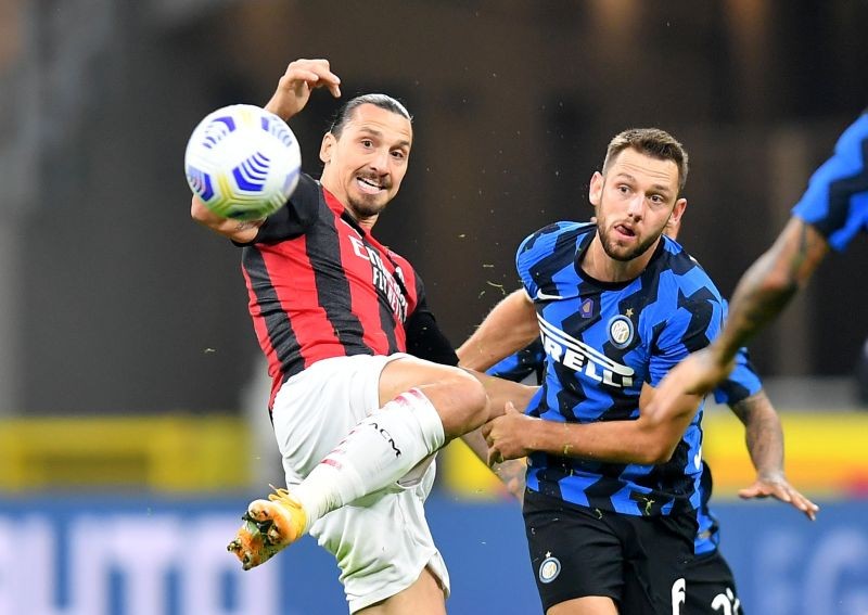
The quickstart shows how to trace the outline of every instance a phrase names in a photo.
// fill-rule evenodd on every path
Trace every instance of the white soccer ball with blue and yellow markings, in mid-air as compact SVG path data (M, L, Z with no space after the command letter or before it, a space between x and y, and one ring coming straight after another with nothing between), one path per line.
M248 104L200 121L184 153L187 183L222 218L258 220L280 209L298 183L302 152L286 123Z

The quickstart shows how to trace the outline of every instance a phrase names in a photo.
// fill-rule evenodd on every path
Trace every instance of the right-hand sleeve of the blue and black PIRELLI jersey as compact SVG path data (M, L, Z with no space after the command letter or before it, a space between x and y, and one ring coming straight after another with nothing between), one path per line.
M720 333L723 319L723 302L709 289L680 300L654 343L649 359L649 384L658 386L689 354L711 344Z

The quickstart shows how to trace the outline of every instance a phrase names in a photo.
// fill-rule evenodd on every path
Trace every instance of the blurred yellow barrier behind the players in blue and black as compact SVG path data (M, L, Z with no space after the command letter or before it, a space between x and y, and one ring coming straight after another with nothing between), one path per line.
M868 413L783 412L781 422L784 470L793 486L812 498L868 495ZM714 494L736 497L755 477L744 428L728 409L711 408L703 431L702 454L712 466ZM506 497L499 481L459 440L446 448L441 467L445 485L463 497Z

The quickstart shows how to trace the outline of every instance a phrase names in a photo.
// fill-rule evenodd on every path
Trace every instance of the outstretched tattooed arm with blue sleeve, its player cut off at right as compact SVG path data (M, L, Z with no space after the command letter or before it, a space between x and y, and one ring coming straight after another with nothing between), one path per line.
M803 289L830 249L844 251L868 230L868 113L841 137L832 156L812 176L790 221L742 276L720 337L661 384L651 406L666 414L685 392L705 393L731 369L738 349L773 321Z

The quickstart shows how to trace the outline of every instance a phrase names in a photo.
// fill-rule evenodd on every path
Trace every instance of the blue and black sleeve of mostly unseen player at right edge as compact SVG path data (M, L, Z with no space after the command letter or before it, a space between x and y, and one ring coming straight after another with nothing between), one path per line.
M868 112L853 123L834 146L834 154L814 171L793 215L814 226L841 252L868 230Z

